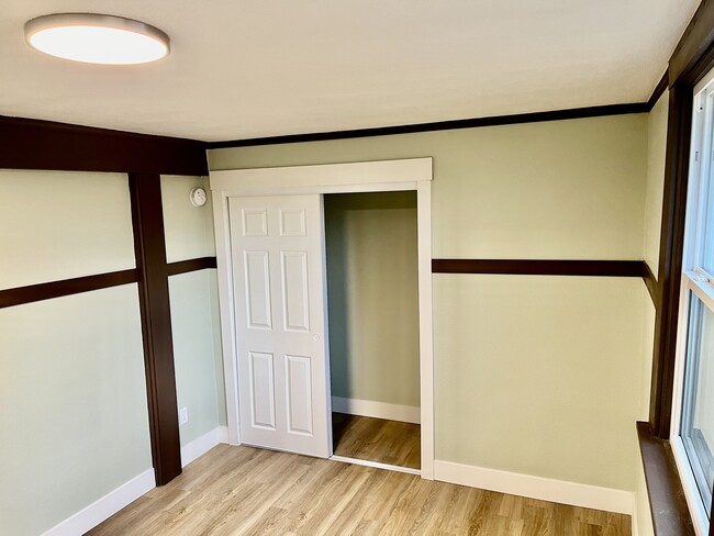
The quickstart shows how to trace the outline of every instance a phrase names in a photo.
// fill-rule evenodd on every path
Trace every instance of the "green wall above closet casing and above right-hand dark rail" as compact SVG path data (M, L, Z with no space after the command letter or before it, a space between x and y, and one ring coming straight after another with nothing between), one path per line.
M647 115L214 149L211 169L434 157L435 258L643 255Z

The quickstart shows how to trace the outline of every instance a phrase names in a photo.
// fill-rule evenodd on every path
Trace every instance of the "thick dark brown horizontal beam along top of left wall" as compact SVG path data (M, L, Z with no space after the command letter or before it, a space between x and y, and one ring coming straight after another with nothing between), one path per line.
M205 144L0 115L0 168L208 175Z

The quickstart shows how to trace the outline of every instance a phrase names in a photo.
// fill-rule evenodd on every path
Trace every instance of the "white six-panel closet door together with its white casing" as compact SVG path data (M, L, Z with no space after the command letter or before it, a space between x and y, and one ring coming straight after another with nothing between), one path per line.
M231 445L434 479L432 164L410 158L211 171ZM419 423L408 424L419 424L420 469L333 451L324 199L377 192L416 196ZM337 403L362 400L335 395Z

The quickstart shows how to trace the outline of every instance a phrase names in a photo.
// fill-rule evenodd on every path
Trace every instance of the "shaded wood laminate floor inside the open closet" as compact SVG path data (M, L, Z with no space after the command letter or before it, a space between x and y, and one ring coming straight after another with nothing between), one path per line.
M420 433L419 424L332 414L335 456L420 469Z

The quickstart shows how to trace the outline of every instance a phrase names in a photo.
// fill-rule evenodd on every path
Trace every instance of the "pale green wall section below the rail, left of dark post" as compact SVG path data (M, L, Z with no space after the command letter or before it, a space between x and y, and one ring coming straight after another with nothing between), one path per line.
M0 533L36 536L152 469L136 284L0 310Z

